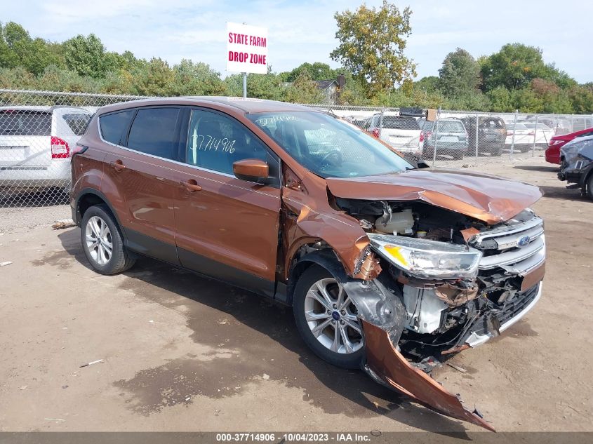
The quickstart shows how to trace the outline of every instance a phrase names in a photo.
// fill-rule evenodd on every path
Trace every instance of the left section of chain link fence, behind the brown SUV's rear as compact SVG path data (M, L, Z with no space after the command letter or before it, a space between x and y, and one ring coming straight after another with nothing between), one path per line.
M70 157L96 110L131 95L0 90L0 208L68 201Z

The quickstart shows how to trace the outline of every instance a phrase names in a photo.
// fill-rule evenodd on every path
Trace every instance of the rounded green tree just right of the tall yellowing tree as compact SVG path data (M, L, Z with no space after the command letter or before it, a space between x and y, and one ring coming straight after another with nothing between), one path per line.
M465 49L448 53L439 69L439 89L446 97L474 95L480 85L480 67Z

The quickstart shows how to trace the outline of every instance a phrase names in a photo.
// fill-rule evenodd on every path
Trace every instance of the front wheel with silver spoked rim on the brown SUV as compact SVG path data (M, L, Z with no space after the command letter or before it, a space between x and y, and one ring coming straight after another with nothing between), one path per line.
M319 265L305 270L295 286L293 313L314 354L337 367L360 368L365 352L357 310L329 271Z

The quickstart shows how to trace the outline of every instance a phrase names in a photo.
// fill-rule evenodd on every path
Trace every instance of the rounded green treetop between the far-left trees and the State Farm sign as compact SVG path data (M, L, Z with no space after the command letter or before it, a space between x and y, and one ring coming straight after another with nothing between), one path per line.
M79 34L62 45L68 69L72 69L81 76L98 79L104 77L109 68L112 68L107 65L105 46L95 34L88 36Z

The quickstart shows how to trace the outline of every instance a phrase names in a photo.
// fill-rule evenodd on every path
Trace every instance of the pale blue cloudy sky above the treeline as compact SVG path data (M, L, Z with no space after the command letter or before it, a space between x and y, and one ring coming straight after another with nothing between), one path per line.
M22 0L2 2L0 21L20 23L32 36L64 41L95 34L108 51L160 57L171 65L182 58L206 62L222 76L226 22L269 29L269 65L288 71L302 62L326 62L338 46L336 11L354 11L361 0ZM438 75L445 56L464 48L474 57L490 55L505 43L538 46L580 83L593 81L589 57L593 1L575 0L408 0L412 34L406 55L417 64L417 79ZM366 1L378 6L381 1Z

